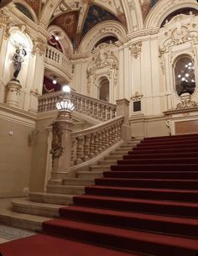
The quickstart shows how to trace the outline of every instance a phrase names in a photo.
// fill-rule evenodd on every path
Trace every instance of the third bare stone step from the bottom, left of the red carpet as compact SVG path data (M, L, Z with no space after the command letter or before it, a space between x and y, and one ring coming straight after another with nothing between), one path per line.
M70 205L73 204L74 195L64 195L46 192L29 192L31 201L50 203L56 205Z

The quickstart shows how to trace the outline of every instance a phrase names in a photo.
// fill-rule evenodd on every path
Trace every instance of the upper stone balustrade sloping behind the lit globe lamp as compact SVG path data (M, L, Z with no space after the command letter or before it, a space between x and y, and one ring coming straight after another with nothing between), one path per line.
M61 91L48 93L39 97L39 112L45 112L55 109L55 103L58 102ZM92 97L87 97L80 93L71 92L71 96L75 101L75 110L83 114L89 115L102 121L107 121L116 116L117 106L108 102L103 102Z

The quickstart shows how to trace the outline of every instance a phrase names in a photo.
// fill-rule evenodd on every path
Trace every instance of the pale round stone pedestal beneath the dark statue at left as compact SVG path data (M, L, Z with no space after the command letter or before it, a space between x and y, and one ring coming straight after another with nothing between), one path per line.
M12 107L18 107L18 97L20 95L21 85L19 81L11 80L8 82L6 103Z

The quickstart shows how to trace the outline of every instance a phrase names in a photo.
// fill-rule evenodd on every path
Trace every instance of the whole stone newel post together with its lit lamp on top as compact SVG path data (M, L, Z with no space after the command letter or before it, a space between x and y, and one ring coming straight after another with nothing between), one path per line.
M69 90L69 89L68 89ZM71 158L71 136L74 123L71 112L74 109L74 102L70 92L65 91L60 102L56 103L59 110L52 128L52 144L50 154L52 154L52 172L49 184L61 184L62 178L69 175Z

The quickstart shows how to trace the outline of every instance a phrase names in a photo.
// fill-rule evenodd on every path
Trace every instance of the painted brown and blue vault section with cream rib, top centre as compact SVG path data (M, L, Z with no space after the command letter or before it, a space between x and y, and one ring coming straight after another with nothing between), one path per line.
M127 26L120 1L64 0L55 9L50 25L64 29L76 49L90 29L107 20L116 20Z

